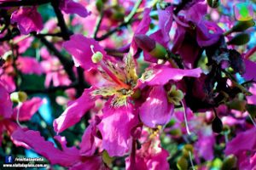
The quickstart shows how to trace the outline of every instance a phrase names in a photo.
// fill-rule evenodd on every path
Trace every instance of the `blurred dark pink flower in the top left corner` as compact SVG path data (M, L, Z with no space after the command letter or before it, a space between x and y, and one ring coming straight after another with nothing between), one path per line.
M20 7L11 16L11 22L18 24L21 34L29 34L32 31L43 29L43 19L36 7Z

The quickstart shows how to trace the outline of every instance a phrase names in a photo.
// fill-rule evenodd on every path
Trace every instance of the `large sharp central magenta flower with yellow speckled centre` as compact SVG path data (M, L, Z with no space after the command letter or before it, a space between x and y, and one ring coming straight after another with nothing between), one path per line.
M96 99L100 97L108 99L102 109L102 122L97 127L102 133L102 148L108 151L109 156L123 156L131 150L131 129L139 123L138 111L143 111L140 116L148 127L164 125L168 122L174 107L173 104L168 104L167 93L163 88L167 82L201 75L201 69L186 71L174 69L169 65L154 65L139 79L136 61L130 53L125 55L123 61L113 59L106 54L98 42L82 35L73 35L70 41L64 42L63 46L73 54L76 65L81 65L85 71L97 69L102 74L104 83L92 84L91 88L84 90L84 94L79 99L71 102L67 110L55 119L55 131L60 133L79 122L85 112L94 107ZM137 100L134 98L140 97L137 92L145 86L155 90L152 90L149 98L138 110ZM162 107L159 102L154 102L157 95L162 96L161 99L166 103L166 107L171 110Z

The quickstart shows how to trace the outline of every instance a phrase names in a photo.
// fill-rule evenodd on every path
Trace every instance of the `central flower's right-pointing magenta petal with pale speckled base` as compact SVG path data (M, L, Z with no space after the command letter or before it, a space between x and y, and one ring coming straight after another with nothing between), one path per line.
M182 70L171 68L167 65L154 65L154 67L146 72L146 79L141 80L149 86L164 85L170 80L179 81L183 77L200 77L201 73L201 68Z

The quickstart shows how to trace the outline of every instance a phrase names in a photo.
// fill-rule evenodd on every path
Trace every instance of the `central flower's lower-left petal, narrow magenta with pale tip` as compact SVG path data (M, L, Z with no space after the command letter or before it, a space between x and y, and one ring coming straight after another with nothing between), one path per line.
M92 88L85 89L84 93L67 106L67 109L54 121L55 132L61 133L68 127L80 121L82 116L95 105L95 100L90 97Z

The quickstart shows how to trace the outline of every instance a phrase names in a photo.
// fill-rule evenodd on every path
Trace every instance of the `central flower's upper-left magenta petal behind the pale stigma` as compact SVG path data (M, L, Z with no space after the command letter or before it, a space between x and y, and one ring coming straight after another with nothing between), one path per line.
M90 46L94 46L93 50L96 52L101 52L103 56L106 56L104 48L100 46L99 42L96 42L93 38L84 37L81 34L75 34L70 37L70 40L63 43L63 48L65 48L69 54L73 55L73 60L76 66L81 65L85 71L96 67L91 60L93 55Z

